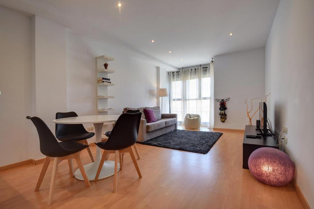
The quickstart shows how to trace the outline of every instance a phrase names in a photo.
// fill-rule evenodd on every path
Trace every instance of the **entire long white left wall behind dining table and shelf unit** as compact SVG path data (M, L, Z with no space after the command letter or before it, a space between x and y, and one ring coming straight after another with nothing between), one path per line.
M96 114L95 56L115 57L109 65L115 70L109 75L115 83L108 88L115 96L109 100L115 109L110 114L121 114L124 107L157 105L155 65L39 16L30 18L2 7L0 11L0 138L2 153L10 156L1 158L0 166L43 157L27 115L42 118L54 133L56 112Z

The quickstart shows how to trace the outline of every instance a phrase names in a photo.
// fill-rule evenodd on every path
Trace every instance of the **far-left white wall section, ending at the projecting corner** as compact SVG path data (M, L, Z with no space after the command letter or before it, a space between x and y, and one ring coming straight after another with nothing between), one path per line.
M32 155L30 26L30 17L0 7L0 166Z

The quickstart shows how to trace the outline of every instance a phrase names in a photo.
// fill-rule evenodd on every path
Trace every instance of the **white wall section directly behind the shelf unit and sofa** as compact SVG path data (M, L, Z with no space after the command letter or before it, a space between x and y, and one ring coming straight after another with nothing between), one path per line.
M106 43L67 32L67 110L78 115L96 114L95 57L107 55L115 60L108 69L115 73L108 78L115 86L108 87L109 114L121 114L124 107L153 107L157 105L156 66L138 61L111 50ZM92 124L86 126L93 126ZM103 131L110 130L104 127ZM91 138L89 142L95 141Z

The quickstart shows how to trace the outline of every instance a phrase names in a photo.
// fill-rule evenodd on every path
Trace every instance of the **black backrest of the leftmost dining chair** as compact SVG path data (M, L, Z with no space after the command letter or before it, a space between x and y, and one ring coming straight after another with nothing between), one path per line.
M59 157L60 154L64 153L64 149L59 145L56 137L52 134L46 123L38 117L27 116L30 119L38 132L40 151L42 154L48 157Z

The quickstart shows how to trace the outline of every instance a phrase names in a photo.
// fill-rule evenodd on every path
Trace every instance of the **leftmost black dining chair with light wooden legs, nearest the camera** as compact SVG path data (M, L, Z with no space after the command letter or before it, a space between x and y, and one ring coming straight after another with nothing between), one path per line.
M48 126L43 120L41 120L38 117L30 117L30 116L27 116L26 118L30 119L34 123L38 132L38 136L39 136L40 151L42 154L46 155L44 165L41 169L41 174L39 175L39 179L37 181L35 192L39 191L41 182L44 179L48 165L50 161L52 160L53 160L53 168L52 168L52 175L51 175L51 181L50 181L48 205L52 204L53 190L54 190L55 182L56 182L58 164L62 160L75 159L76 163L78 164L78 168L81 171L81 174L84 178L86 186L90 186L88 177L84 170L84 166L83 166L80 154L79 154L79 151L89 147L89 145L85 145L85 144L81 144L81 143L73 142L73 141L66 141L66 142L59 143L56 137L52 134L51 130L48 128Z

